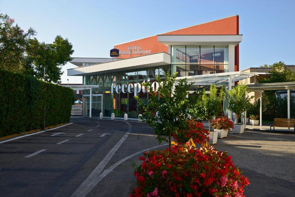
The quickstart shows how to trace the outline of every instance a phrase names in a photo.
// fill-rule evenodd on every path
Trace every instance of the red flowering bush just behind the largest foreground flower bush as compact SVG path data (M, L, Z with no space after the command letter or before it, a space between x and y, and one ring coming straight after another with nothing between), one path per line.
M209 141L209 131L204 128L202 123L194 120L187 121L189 122L189 128L187 130L181 130L172 134L175 141L180 144L185 144L191 138L197 144L203 144L205 140Z

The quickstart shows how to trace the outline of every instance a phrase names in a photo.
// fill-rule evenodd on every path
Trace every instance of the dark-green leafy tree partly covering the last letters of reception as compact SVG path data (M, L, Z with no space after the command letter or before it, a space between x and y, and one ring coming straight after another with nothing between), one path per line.
M186 119L189 115L189 109L197 99L196 94L195 97L186 98L193 83L188 84L186 79L181 79L178 84L174 84L176 77L177 72L172 76L167 73L165 80L162 82L160 77L156 76L159 83L158 94L160 99L150 82L142 83L149 91L147 106L143 104L138 96L135 97L143 108L144 121L155 127L154 132L158 135L159 143L167 141L166 137L162 137L162 135L169 136L169 147L171 147L171 133L177 133L179 129L188 129Z

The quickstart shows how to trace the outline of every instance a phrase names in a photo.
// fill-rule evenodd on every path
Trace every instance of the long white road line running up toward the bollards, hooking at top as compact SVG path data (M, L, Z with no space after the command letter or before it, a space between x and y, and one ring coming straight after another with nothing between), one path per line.
M109 160L113 157L115 152L119 149L121 144L125 141L125 139L128 137L129 133L131 132L131 124L124 121L128 124L129 128L127 133L120 139L120 141L110 150L110 152L104 157L104 159L99 163L99 165L91 172L91 174L83 181L83 183L79 186L79 188L72 194L71 197L77 196L86 196L92 188L99 182L97 179L98 175L101 173L101 171L104 169L106 164L109 162Z

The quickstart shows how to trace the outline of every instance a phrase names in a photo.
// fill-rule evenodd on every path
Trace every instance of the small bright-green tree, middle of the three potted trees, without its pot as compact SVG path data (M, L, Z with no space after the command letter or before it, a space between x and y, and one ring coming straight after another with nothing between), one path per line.
M209 122L209 132L210 120L217 116L218 112L222 110L222 101L224 97L223 87L220 89L219 96L217 95L216 85L210 85L210 94L207 95L205 89L199 91L200 99L194 106L195 114L202 119Z

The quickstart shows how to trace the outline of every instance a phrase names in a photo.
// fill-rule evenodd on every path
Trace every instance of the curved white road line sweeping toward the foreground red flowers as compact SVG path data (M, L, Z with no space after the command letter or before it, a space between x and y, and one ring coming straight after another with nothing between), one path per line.
M95 183L95 185L97 184L97 183L99 183L99 181L101 181L106 175L108 175L110 172L112 172L113 170L114 170L114 168L115 167L117 167L118 165L120 165L122 162L124 162L124 161L126 161L127 159L130 159L131 157L134 157L135 155L137 155L137 154L140 154L140 153L142 153L142 152L145 152L145 151L148 151L148 150L151 150L151 149L155 149L155 148L158 148L158 147L160 147L160 146L167 146L168 144L162 144L162 145L159 145L159 146L154 146L154 147L152 147L152 148L148 148L148 149L144 149L144 150L141 150L141 151L138 151L138 152L136 152L136 153L133 153L133 154L131 154L131 155L129 155L128 157L125 157L124 159L121 159L120 161L118 161L117 163L115 163L114 165L112 165L111 167L109 167L107 170L104 170L101 174L96 174L96 176L94 176L93 178L95 179L95 180L92 180L92 182L94 182ZM92 173L91 173L92 174ZM88 177L89 178L89 177ZM88 179L87 178L87 179ZM86 180L87 180L86 179ZM85 181L86 181L85 180ZM85 182L84 181L84 182ZM83 183L84 183L83 182ZM82 184L83 184L82 183ZM93 187L95 186L95 185L93 185ZM81 187L81 186L80 186ZM79 187L79 188L80 188ZM92 187L92 188L93 188ZM79 189L78 188L78 189ZM91 188L91 189L92 189ZM87 190L86 190L87 189ZM73 193L73 195L71 196L71 197L73 197L73 196L81 196L81 197L84 197L84 196L86 196L89 192L90 192L90 190L91 190L90 188L88 189L88 188L85 188L83 191L81 191L80 193L77 193L77 191L78 190L76 190L76 192L75 193ZM83 192L83 193L82 193Z

